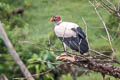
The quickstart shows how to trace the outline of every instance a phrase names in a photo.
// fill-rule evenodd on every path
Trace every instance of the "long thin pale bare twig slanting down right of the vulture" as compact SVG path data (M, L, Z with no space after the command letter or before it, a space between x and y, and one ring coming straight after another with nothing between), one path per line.
M111 41L111 38L110 38L110 34L109 34L109 32L108 32L108 29L107 29L107 26L106 26L104 20L102 19L102 17L100 16L99 12L98 12L97 9L96 9L96 7L94 6L94 4L93 4L90 0L89 0L89 3L94 7L95 12L97 13L99 19L102 21L102 23L103 23L103 25L104 25L104 28L105 28L105 31L106 31L106 33L107 33L107 37L108 37L108 40L109 40L110 47L111 47L111 49L112 49L112 51L113 51L114 56L116 56L115 50L114 50L114 48L112 47L112 41Z

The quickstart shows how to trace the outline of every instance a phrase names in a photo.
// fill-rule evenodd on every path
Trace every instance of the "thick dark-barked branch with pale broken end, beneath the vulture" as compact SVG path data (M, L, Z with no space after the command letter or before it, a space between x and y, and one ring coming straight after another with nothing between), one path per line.
M69 62L71 64L77 65L79 67L84 67L94 72L100 72L102 74L110 75L115 78L120 78L120 67L114 67L108 62L100 59L95 59L91 56L86 57L83 55L61 55L56 58L57 60L62 60Z

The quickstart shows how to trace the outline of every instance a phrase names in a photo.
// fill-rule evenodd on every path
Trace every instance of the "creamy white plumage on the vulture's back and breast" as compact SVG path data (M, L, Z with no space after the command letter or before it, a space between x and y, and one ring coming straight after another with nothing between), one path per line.
M76 32L71 30L72 28L77 28L79 25L72 22L61 22L58 25L55 25L54 31L58 37L76 37Z

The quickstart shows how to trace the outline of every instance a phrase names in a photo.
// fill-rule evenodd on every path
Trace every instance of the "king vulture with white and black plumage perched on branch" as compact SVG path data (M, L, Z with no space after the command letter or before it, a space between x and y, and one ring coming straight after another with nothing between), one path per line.
M55 34L63 42L65 51L67 45L73 51L80 52L81 54L88 52L86 35L79 25L72 22L64 22L60 16L53 16L51 22L54 23Z

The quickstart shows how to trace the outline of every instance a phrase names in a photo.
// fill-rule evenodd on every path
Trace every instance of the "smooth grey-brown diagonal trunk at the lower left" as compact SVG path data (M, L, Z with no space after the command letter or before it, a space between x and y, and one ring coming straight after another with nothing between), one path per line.
M13 45L11 44L10 40L8 39L7 34L4 30L4 28L2 27L1 22L0 22L0 33L1 33L2 40L4 41L5 45L7 46L10 54L13 57L13 59L19 65L19 67L20 67L22 73L24 74L24 76L26 77L26 79L27 80L34 80L31 73L28 71L28 69L26 68L26 66L24 65L22 60L20 59L19 55L15 51L15 49L14 49Z

